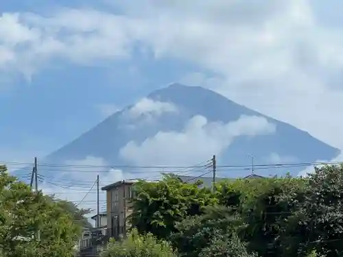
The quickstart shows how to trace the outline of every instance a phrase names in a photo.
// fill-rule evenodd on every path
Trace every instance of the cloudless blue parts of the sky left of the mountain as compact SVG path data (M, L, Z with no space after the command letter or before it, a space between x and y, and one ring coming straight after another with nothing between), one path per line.
M80 1L44 3L11 1L1 5L0 10L5 15L49 14L61 7L84 6ZM94 8L101 10L99 6ZM78 65L53 59L47 65L29 79L20 72L0 71L0 118L4 124L0 127L0 140L1 154L5 156L1 160L26 160L34 154L48 154L117 108L134 103L189 72L202 71L197 64L171 58L155 60L153 53L142 54L135 49L126 60Z

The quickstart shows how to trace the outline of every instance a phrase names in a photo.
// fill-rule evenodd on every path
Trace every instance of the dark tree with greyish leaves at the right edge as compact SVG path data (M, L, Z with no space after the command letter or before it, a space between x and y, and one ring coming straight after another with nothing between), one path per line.
M289 219L283 240L287 256L343 253L343 165L326 165L309 175L305 201Z

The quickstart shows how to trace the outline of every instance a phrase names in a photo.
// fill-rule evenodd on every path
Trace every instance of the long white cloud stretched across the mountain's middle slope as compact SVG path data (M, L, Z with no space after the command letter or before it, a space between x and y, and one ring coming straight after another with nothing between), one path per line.
M143 143L130 141L121 158L134 164L190 165L220 154L237 136L272 134L276 127L263 117L242 116L227 124L211 123L202 116L189 120L182 132L158 132Z

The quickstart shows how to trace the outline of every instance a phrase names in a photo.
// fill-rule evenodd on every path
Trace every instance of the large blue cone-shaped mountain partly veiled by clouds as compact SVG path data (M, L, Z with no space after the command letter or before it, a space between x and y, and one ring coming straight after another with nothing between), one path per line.
M339 150L296 127L241 106L212 90L171 84L156 90L45 158L101 158L108 165L192 165L217 155L218 176L296 175L294 163L331 160ZM293 163L287 169L263 164Z

